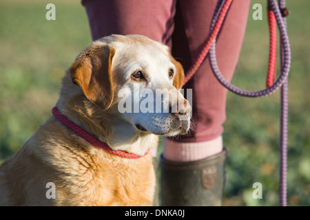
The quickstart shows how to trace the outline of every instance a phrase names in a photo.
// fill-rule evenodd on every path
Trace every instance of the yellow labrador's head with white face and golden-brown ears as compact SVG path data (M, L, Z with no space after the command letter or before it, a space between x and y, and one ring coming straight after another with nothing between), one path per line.
M183 67L167 46L139 35L95 41L70 68L72 82L102 111L114 109L140 133L187 133L191 107ZM117 110L116 110L117 109Z

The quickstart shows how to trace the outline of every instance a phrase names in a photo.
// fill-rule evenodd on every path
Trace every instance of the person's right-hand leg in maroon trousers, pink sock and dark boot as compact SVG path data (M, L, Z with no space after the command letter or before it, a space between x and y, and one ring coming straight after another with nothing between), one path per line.
M172 54L185 72L207 39L216 3L217 0L176 3ZM231 80L236 69L249 3L233 1L216 41L218 65L227 80ZM227 89L214 77L208 58L184 89L192 89L194 123L189 135L165 139L161 158L163 205L220 205L226 157L221 135Z

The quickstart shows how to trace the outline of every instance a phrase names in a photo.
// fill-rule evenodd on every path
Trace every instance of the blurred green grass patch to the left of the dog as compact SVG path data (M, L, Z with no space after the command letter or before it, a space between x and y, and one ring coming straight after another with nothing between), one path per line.
M48 118L65 71L92 42L85 9L77 2L56 1L56 21L45 19L46 1L8 2L0 7L3 159Z

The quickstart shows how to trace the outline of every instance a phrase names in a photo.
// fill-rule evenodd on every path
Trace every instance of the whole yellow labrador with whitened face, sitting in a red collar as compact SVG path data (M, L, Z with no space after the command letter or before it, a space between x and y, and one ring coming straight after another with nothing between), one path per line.
M151 206L149 149L189 130L183 78L145 36L94 41L65 74L53 115L1 164L0 205Z

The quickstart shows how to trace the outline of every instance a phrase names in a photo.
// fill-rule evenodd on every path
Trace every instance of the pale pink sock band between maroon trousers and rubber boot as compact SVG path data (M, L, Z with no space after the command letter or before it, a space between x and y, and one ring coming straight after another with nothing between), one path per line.
M206 142L173 142L164 138L163 157L176 162L189 162L198 159L205 159L223 151L222 136Z

